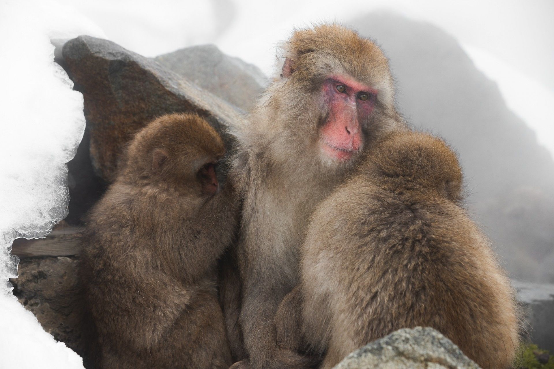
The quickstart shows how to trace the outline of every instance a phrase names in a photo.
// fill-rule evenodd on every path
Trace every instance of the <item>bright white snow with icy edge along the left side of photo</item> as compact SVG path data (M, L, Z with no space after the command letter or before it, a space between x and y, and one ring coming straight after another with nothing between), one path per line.
M12 294L14 238L44 237L68 212L66 163L85 128L83 96L50 38L104 34L48 1L0 0L0 357L2 367L83 368Z

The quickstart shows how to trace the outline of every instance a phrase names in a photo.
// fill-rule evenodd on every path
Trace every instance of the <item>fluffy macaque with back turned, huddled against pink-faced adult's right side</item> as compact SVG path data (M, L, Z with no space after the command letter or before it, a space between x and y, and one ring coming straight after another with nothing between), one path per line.
M325 355L329 369L397 329L430 326L481 367L509 367L514 292L460 206L461 185L440 139L395 132L375 145L312 216L300 282L276 315L279 345Z

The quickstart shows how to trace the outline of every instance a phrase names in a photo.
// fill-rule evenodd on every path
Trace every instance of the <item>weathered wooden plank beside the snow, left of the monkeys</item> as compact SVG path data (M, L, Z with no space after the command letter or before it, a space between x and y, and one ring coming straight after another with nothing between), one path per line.
M73 256L80 252L79 235L83 228L66 227L52 231L45 238L13 241L12 254L20 258L35 256Z

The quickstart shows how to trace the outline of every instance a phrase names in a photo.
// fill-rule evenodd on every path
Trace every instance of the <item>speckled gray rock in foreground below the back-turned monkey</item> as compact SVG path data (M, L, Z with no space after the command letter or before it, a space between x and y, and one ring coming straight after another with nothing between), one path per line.
M447 337L433 328L396 332L352 352L335 369L479 368Z

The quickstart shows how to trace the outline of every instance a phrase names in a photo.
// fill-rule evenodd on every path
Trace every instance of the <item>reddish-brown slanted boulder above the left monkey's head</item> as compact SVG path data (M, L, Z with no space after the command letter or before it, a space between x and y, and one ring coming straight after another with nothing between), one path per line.
M63 63L83 93L95 172L114 179L117 159L132 134L172 112L197 112L222 133L244 112L151 59L107 40L80 36L63 46Z

